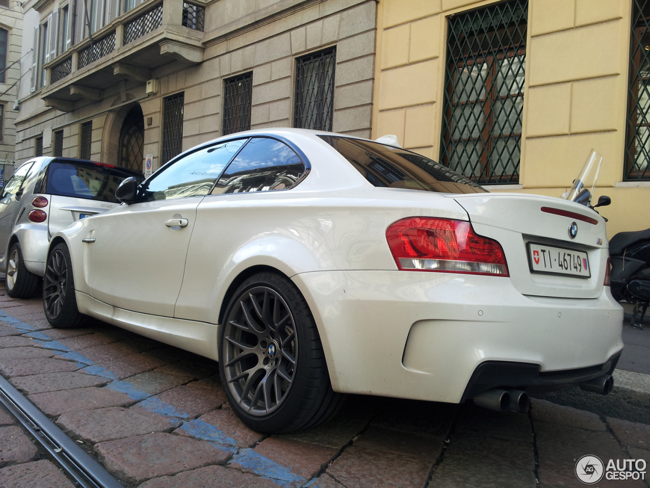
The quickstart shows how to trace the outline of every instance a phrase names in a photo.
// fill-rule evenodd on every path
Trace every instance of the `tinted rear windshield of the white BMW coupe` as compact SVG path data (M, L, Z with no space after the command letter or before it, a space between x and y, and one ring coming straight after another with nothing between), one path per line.
M482 186L432 159L378 142L320 136L374 186L439 193L484 193Z

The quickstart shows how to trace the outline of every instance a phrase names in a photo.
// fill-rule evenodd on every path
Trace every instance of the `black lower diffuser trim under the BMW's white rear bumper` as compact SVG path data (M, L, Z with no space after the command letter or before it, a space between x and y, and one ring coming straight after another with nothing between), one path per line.
M508 363L506 361L486 361L474 370L467 383L463 400L474 398L491 388L525 389L528 392L546 392L579 385L584 381L612 374L621 353L616 353L602 365L587 368L543 372L533 363Z

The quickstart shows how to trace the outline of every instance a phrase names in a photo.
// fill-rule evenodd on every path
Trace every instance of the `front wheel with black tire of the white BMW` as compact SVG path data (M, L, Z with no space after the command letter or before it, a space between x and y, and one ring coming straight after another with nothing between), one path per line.
M43 309L47 322L55 329L82 327L89 318L77 309L72 260L64 242L54 246L47 256L43 278Z

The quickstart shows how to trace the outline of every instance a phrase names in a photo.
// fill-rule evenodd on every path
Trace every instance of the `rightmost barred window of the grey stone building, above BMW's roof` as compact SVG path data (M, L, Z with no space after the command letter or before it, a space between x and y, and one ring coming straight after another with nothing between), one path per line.
M331 131L335 65L336 47L296 60L294 127Z

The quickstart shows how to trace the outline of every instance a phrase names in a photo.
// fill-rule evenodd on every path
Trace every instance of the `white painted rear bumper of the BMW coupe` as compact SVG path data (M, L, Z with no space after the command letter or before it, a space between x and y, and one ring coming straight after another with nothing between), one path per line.
M623 309L607 287L598 298L560 299L525 296L506 277L337 271L292 279L315 316L336 391L458 403L482 363L534 365L536 383L604 365L623 349Z

